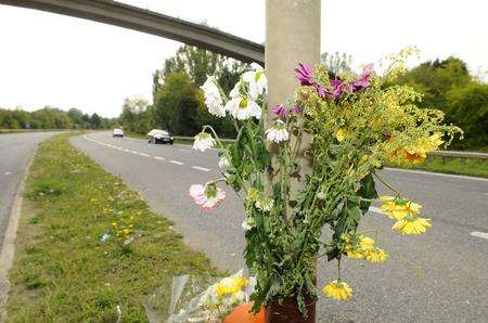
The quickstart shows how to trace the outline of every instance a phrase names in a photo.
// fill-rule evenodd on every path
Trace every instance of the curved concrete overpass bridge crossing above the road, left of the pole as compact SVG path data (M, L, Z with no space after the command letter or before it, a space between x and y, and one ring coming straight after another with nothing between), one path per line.
M265 64L262 44L200 24L111 0L0 0L181 41L243 62Z

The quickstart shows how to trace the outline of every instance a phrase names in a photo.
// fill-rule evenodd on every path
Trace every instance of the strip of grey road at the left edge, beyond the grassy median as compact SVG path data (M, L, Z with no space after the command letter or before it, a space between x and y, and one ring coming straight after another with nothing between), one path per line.
M13 198L36 146L55 132L0 134L0 249Z

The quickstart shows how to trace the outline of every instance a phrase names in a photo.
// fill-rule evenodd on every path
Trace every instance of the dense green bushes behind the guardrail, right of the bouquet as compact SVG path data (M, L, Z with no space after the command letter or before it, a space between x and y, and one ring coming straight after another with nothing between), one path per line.
M424 95L421 107L442 111L447 121L464 130L465 140L454 140L454 148L480 150L488 145L488 85L476 81L463 61L449 57L425 62L399 81Z

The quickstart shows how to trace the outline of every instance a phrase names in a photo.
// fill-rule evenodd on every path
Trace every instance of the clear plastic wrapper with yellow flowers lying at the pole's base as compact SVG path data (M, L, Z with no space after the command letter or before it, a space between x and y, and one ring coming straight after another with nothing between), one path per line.
M251 282L249 282L251 281ZM168 323L222 322L237 306L245 303L254 289L254 280L243 270L227 277L175 276L170 288L156 292L145 306L147 318Z

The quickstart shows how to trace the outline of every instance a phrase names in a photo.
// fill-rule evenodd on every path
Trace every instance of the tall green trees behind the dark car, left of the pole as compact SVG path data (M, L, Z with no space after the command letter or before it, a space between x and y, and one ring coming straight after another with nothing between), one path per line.
M153 105L143 113L124 107L120 122L129 132L146 133L150 128L160 128L177 135L194 135L202 126L209 125L222 138L235 138L229 118L218 118L207 112L200 87L208 75L215 75L229 92L246 66L203 49L182 46L153 74Z

